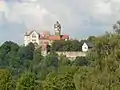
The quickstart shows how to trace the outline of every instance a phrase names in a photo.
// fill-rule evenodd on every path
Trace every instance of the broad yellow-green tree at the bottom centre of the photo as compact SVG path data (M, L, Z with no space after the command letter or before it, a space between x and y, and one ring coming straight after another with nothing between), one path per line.
M65 69L65 70L64 70ZM76 90L73 81L76 68L64 67L58 73L50 73L43 82L44 90Z

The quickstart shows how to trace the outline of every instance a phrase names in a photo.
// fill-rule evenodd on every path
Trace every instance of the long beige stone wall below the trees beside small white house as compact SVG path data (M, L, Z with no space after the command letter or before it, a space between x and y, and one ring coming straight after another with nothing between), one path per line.
M76 57L85 57L86 53L85 52L56 52L59 56L60 55L65 55L68 57L70 60L74 60Z

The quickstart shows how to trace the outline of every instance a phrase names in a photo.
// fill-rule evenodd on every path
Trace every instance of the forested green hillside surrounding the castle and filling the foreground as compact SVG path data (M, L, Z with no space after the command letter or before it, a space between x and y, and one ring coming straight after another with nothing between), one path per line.
M70 49L65 42L55 42L59 47L53 43L45 57L32 43L24 47L6 41L0 46L0 90L120 90L118 25L114 33L90 37L94 48L74 61L54 51L80 50L77 41L69 42Z

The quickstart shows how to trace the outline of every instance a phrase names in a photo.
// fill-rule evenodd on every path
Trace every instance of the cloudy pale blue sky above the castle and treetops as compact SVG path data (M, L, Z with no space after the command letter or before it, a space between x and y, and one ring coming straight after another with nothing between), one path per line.
M0 43L23 43L33 28L53 33L57 20L71 38L102 35L120 20L120 0L0 0Z

